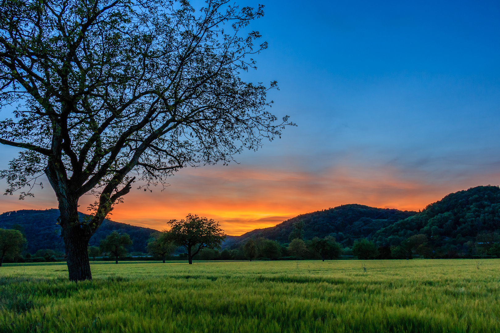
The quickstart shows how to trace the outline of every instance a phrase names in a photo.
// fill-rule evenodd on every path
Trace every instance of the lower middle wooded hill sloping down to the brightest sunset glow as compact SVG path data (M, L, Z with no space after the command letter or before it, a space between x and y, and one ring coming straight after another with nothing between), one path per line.
M236 248L247 239L257 237L288 243L293 223L298 221L304 222L303 239L305 240L331 235L336 238L337 242L350 246L354 240L369 238L381 228L414 214L416 212L403 212L397 209L373 208L357 204L342 205L298 215L274 227L252 230L239 237L228 239L224 246Z

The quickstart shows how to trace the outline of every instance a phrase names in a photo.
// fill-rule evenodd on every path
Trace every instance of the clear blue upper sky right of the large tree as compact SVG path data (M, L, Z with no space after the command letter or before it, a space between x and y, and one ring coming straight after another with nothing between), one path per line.
M498 2L273 1L249 76L299 125L269 148L429 172L497 166ZM333 155L332 155L333 154ZM252 158L246 155L248 158ZM411 172L411 171L410 171Z

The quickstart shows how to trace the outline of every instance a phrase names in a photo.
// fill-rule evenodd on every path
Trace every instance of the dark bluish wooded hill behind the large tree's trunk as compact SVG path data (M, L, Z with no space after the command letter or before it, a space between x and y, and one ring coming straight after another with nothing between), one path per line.
M80 213L83 217L85 214ZM18 224L23 229L28 241L27 250L35 253L40 249L51 249L64 251L64 242L60 236L60 228L57 225L59 217L58 209L46 210L18 210L6 212L0 215L0 228L11 229ZM133 242L130 251L145 252L149 235L156 230L131 226L129 224L104 220L97 232L90 238L89 245L98 246L100 240L111 232L127 233Z

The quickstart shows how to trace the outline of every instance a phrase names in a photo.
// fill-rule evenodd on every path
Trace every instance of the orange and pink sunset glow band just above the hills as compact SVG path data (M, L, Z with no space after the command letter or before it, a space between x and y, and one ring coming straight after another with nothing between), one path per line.
M171 185L162 192L132 189L109 219L162 230L168 229L170 219L191 213L219 221L228 235L241 235L343 204L418 211L448 193L498 183L500 175L480 174L453 182L418 178L407 178L393 167L340 166L319 173L242 165L191 168L171 177ZM35 200L3 198L7 200L0 204L2 211L57 207L49 188L37 193ZM83 196L80 211L87 213L83 207L92 201L93 197Z

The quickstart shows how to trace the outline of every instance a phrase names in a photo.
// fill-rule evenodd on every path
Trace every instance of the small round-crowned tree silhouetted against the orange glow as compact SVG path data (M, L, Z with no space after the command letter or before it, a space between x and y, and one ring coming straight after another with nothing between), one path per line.
M187 251L187 261L192 264L194 257L201 249L219 249L225 240L225 234L218 222L206 217L187 215L185 220L170 220L167 232L168 239Z

